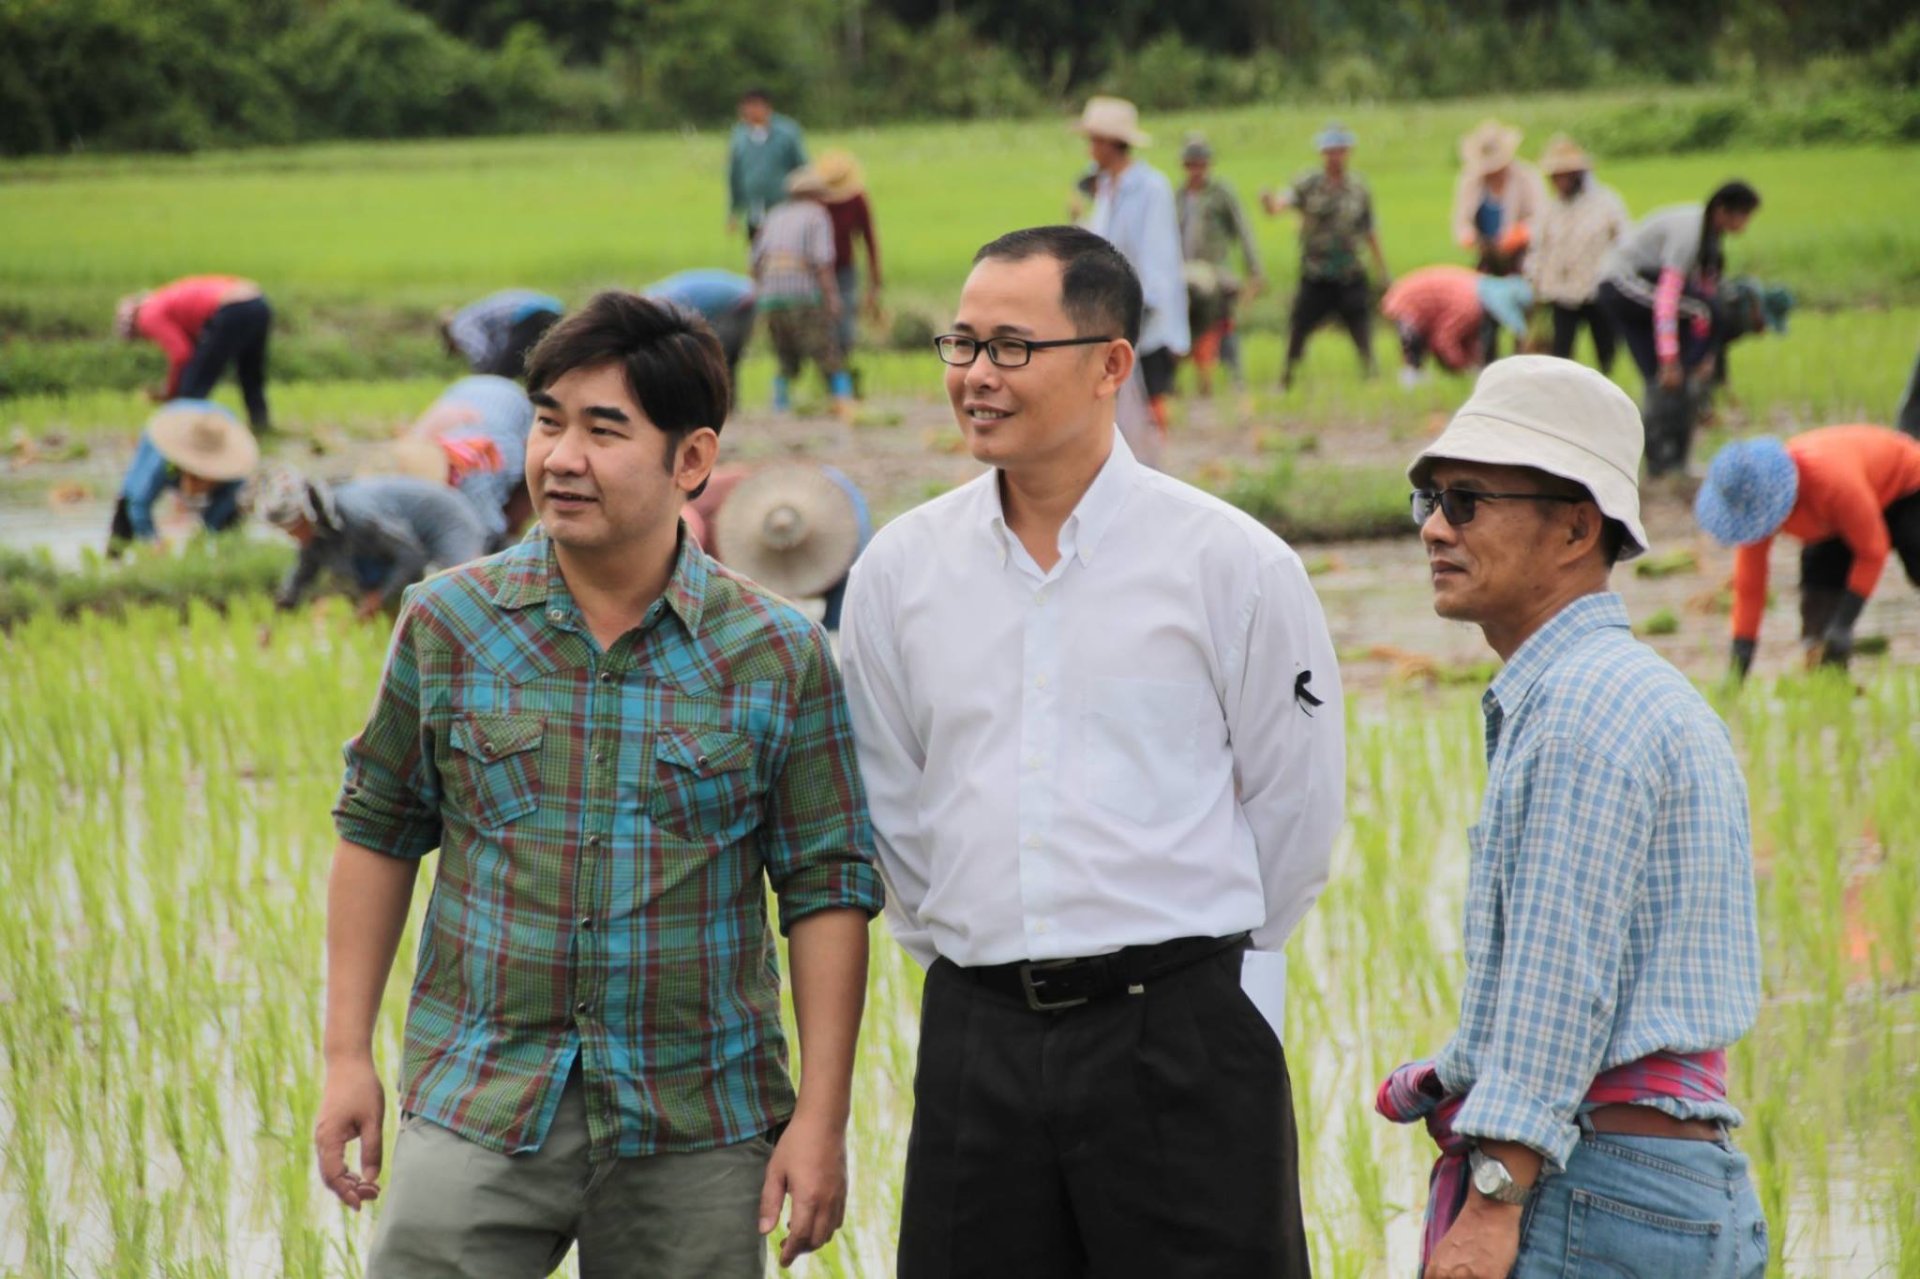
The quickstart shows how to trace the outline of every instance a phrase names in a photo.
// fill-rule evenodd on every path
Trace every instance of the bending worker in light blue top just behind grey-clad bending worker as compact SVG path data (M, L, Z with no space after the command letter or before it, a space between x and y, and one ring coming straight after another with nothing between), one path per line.
M497 551L534 511L526 494L532 426L534 403L518 382L490 374L461 378L394 442L394 467L459 490L480 517L488 549Z

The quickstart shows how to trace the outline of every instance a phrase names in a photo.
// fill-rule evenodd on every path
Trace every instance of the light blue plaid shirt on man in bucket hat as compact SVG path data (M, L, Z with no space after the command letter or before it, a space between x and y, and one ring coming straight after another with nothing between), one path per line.
M1747 787L1726 726L1636 641L1619 595L1567 605L1480 699L1467 985L1436 1058L1455 1131L1567 1166L1594 1075L1724 1049L1753 1024L1761 943ZM1655 1098L1740 1123L1726 1102Z

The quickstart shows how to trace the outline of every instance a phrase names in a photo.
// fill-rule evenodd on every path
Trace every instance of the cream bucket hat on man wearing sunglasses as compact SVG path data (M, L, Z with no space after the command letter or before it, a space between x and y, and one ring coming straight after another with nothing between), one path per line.
M1407 478L1425 488L1436 461L1534 467L1586 486L1599 513L1626 526L1620 559L1647 549L1640 522L1645 428L1632 398L1586 365L1553 355L1494 361Z

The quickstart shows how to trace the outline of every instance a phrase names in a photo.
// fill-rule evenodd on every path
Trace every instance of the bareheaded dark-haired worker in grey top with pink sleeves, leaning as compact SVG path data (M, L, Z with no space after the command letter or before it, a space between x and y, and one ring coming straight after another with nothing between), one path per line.
M1761 194L1724 182L1705 205L1676 204L1634 225L1607 252L1599 305L1645 380L1647 474L1686 469L1715 373L1715 298L1726 236L1747 229Z

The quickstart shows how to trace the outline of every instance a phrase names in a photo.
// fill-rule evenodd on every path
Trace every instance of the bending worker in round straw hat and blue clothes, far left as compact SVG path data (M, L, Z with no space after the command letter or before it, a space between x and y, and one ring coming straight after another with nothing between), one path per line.
M148 419L121 478L108 555L131 542L157 542L154 503L167 490L200 511L207 532L240 520L240 490L259 465L259 444L240 419L209 399L175 399Z

